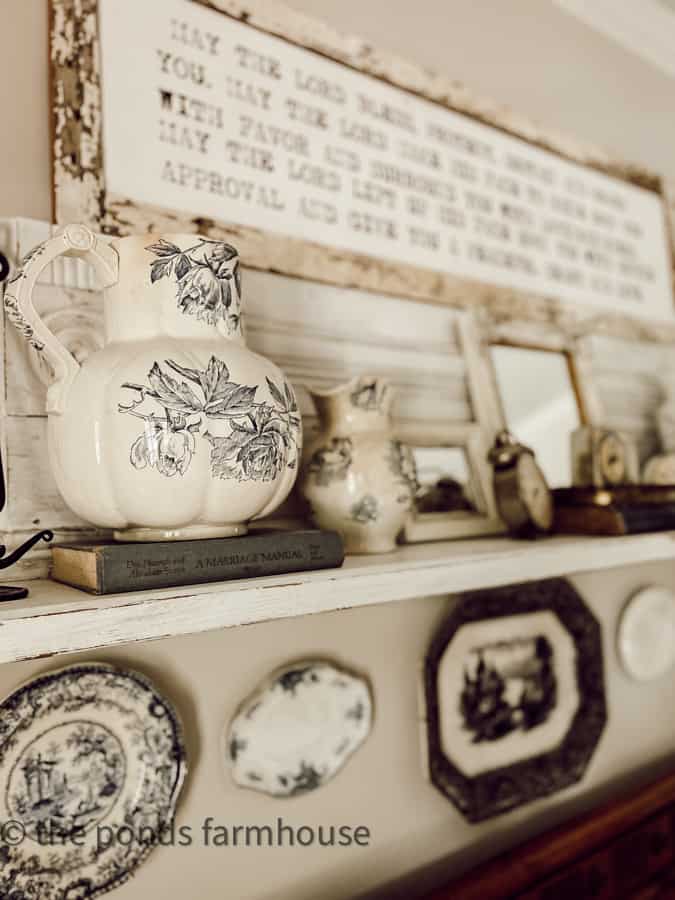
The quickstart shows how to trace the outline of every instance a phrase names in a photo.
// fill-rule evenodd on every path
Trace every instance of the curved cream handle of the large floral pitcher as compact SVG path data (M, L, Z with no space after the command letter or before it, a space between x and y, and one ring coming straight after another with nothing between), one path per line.
M21 263L5 286L7 317L19 334L52 370L47 390L47 412L61 414L80 365L44 324L33 306L33 288L43 270L58 256L73 256L91 263L104 288L116 284L119 272L117 252L84 225L68 225L59 234L38 244Z

